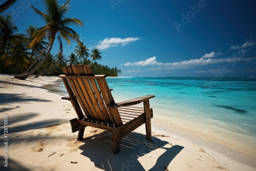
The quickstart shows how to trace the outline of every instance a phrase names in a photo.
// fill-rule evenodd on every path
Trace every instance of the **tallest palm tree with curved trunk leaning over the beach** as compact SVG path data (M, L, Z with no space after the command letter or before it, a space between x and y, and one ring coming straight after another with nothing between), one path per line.
M80 19L65 17L66 13L69 10L69 2L70 0L68 0L65 4L59 6L57 0L45 0L46 13L41 12L32 6L35 12L40 15L43 20L45 20L46 25L36 30L34 35L35 37L33 41L31 41L30 47L33 47L34 44L41 41L44 37L48 38L49 44L44 50L41 51L41 53L35 58L31 65L34 65L34 63L36 63L36 61L41 58L46 51L47 53L42 57L42 60L40 60L40 62L38 62L38 64L32 70L27 73L15 75L15 78L26 79L30 75L32 75L38 68L41 67L42 63L44 63L52 50L55 37L59 42L60 52L62 52L63 49L61 38L65 39L69 45L71 44L70 40L79 40L78 34L68 26L71 24L82 26L83 24Z

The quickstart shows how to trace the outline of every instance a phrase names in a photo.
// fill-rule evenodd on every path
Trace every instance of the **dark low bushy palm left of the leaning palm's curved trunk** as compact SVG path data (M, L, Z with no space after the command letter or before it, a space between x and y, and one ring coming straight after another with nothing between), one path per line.
M14 66L14 74L17 74L19 70L24 70L29 64L29 56L31 52L24 41L15 41L10 46L10 51L6 53L8 55L7 66Z

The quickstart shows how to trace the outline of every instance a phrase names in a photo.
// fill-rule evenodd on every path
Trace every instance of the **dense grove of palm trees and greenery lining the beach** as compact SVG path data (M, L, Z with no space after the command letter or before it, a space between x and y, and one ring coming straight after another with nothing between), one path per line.
M26 79L30 75L59 75L67 65L87 64L92 66L95 74L118 76L121 73L116 67L110 68L96 62L102 58L99 49L93 49L91 55L84 42L79 40L72 25L82 26L77 18L68 18L68 0L59 5L57 0L45 0L46 12L35 7L34 11L41 16L45 26L29 26L26 33L18 33L18 28L12 22L11 15L0 15L0 72L14 74L15 78ZM55 40L59 51L52 54ZM62 41L70 45L76 42L74 52L63 54Z

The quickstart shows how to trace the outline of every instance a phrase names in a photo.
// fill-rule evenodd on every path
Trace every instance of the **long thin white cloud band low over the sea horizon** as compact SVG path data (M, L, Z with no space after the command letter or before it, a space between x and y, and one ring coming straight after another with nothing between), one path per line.
M252 59L252 58L251 58ZM184 69L184 68L194 68L197 66L204 66L209 65L212 63L223 63L223 62L234 62L234 61L242 61L242 60L251 60L249 58L241 58L241 57L228 57L228 58L199 58L199 59L190 59L190 60L183 60L179 62L168 62L162 63L158 62L155 56L150 57L144 61L138 62L126 62L124 66L158 66L152 70L160 70L160 69ZM123 65L122 65L123 66Z

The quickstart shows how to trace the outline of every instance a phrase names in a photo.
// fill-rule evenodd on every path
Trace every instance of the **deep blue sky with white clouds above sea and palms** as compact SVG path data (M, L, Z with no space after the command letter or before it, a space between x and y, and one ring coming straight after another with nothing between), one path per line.
M31 5L45 11L40 0L21 0L5 12L20 33L44 26ZM119 76L256 76L255 8L254 0L71 0L67 17L82 20L70 27ZM64 44L65 55L75 46Z

